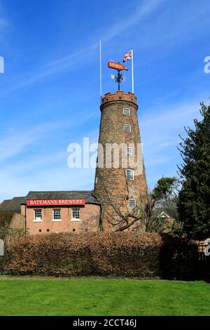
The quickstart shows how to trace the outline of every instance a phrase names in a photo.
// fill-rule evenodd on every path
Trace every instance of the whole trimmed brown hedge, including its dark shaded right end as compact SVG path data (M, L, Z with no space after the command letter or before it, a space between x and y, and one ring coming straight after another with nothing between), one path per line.
M193 242L148 232L59 233L23 237L0 258L9 275L104 275L200 279Z

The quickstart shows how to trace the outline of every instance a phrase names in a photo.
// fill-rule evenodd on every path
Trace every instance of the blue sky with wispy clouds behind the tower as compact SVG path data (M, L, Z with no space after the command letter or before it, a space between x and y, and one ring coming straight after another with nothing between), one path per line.
M69 169L67 146L98 139L99 39L103 93L117 87L107 61L134 48L148 186L176 175L179 134L209 103L209 14L209 0L0 0L0 201L92 190L94 169Z

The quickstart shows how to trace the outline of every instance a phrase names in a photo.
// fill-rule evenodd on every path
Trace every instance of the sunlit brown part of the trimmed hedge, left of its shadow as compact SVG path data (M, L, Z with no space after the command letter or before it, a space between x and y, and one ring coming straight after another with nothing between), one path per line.
M3 271L10 275L156 277L161 246L160 235L146 232L29 236L6 252Z

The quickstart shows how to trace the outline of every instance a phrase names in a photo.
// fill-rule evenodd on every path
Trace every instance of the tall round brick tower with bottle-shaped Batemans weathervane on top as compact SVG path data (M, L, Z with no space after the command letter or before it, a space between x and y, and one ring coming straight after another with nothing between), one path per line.
M147 194L137 97L120 91L120 63L109 62L118 70L118 91L102 97L98 161L94 195L102 204L101 229L132 230L138 227Z

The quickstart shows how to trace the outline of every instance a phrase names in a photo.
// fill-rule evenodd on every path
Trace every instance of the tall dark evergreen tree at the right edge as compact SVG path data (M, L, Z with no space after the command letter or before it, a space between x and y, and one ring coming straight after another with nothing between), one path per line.
M179 148L179 220L183 233L193 239L210 237L210 105L201 103L200 113L202 120L194 120L194 130L185 128L188 136L181 138Z

